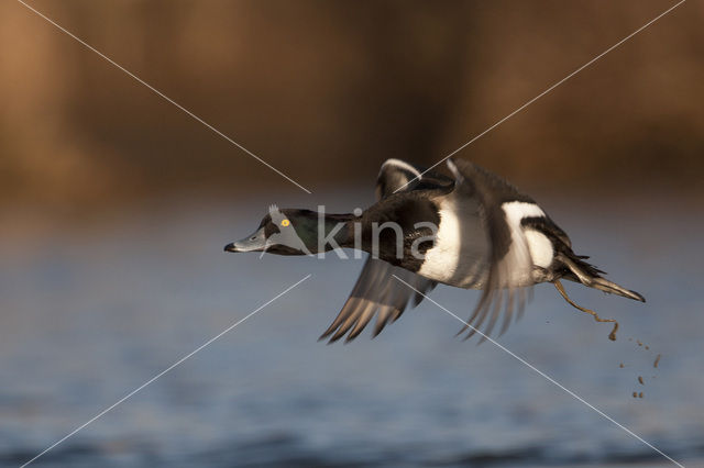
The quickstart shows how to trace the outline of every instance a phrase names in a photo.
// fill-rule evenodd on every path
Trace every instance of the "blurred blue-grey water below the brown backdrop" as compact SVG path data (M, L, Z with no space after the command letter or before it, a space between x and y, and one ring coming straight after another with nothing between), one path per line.
M670 466L493 344L453 338L460 323L428 301L376 339L365 331L349 345L318 343L362 260L221 252L267 203L182 201L47 227L7 214L0 465L29 460L310 272L36 466ZM565 285L578 303L620 322L616 342L610 324L549 285L498 341L702 466L702 213L667 207L657 218L598 203L550 210L579 253L648 299ZM439 287L431 297L466 317L479 294Z

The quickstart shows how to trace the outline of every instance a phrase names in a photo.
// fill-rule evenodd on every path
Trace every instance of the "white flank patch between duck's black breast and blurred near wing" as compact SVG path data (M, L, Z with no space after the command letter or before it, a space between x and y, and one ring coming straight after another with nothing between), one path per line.
M440 225L435 246L426 252L425 261L418 270L419 275L441 282L447 282L454 276L460 264L462 246L460 226L454 203L446 200L440 205Z

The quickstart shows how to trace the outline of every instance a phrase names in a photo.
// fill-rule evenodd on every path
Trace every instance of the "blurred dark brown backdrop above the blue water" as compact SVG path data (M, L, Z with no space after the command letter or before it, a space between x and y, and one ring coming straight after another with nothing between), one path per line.
M672 1L33 1L312 191L432 164ZM697 192L704 3L460 153L526 188ZM295 186L22 4L0 4L0 201Z

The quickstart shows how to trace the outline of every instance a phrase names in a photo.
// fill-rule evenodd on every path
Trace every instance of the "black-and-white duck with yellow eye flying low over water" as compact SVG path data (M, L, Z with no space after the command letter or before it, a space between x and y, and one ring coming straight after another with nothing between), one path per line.
M606 279L587 256L576 255L568 234L507 180L464 159L448 158L447 168L449 175L387 159L378 171L376 202L367 209L328 214L271 205L253 234L224 250L369 253L348 300L320 335L328 343L354 339L374 316L372 337L377 336L439 283L482 291L458 333L466 332L466 339L483 330L480 343L499 320L503 335L513 317L522 315L526 298L539 283L553 283L571 305L598 321L609 320L574 303L560 280L646 301Z

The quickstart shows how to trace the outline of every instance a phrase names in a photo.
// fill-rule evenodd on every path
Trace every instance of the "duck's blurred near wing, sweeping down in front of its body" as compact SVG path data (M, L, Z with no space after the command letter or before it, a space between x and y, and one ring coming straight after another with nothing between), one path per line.
M510 324L514 310L522 312L526 287L531 286L532 258L528 241L520 229L525 210L544 215L535 201L520 193L501 177L462 159L448 159L455 176L455 190L463 190L480 203L490 243L490 271L474 312L460 333L472 328L465 339L474 335L488 319L482 339L492 333L504 314L503 334ZM459 334L460 334L459 333Z

